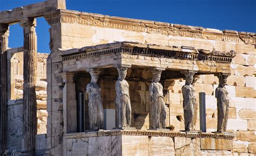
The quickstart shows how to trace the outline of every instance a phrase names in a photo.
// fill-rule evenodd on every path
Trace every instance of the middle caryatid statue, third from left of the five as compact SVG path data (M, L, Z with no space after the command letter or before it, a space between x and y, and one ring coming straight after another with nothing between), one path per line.
M150 84L150 123L151 128L166 127L166 106L164 102L163 86L159 83L161 70L153 70L153 78Z

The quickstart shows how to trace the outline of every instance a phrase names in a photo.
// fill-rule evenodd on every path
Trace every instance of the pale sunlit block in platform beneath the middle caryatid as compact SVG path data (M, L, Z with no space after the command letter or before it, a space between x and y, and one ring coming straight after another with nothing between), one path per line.
M174 155L174 144L171 137L150 137L149 155Z

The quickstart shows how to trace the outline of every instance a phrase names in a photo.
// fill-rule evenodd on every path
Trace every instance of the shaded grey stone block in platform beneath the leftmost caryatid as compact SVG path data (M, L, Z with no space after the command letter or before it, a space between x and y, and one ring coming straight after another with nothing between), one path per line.
M88 155L111 155L111 136L90 137Z

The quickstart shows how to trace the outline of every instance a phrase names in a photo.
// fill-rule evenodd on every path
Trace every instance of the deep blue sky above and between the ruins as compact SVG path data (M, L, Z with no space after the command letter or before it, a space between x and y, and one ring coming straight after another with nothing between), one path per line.
M0 0L0 10L41 1ZM256 0L66 0L66 8L219 30L256 32ZM44 18L37 18L38 52L50 52L49 28ZM11 25L9 47L19 46L23 46L22 27L18 24Z

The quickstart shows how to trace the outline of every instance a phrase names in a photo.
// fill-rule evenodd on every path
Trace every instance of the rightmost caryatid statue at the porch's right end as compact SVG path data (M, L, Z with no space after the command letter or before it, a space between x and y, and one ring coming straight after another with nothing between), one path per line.
M228 108L230 101L228 100L228 91L225 87L227 83L227 75L219 74L219 87L215 90L215 98L217 98L218 109L218 126L217 132L225 132L227 128Z

